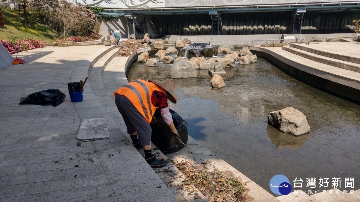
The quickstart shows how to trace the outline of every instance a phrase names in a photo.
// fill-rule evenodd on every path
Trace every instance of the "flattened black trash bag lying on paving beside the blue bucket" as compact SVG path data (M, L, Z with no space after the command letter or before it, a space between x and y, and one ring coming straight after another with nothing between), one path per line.
M20 98L19 104L46 105L51 102L53 103L53 107L56 107L59 104L63 103L65 98L66 95L62 93L59 89L48 89L32 93L25 98Z

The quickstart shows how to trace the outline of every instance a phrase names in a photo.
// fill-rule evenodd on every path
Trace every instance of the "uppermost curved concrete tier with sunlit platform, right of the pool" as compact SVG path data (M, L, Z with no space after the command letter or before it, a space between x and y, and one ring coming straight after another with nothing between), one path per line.
M328 42L328 43L330 43L330 42ZM311 53L315 53L316 55L321 55L321 56L325 56L325 57L334 58L337 60L348 61L348 62L360 64L360 56L357 54L358 53L357 50L359 50L360 45L358 45L357 43L353 43L353 42L338 42L338 43L344 43L344 45L342 47L339 47L338 50L327 50L326 49L327 46L325 45L325 44L327 44L327 42L321 43L321 45L323 45L324 48L318 48L315 46L312 47L311 44L314 44L314 43L310 43L310 45L308 45L306 43L302 43L302 44L291 43L290 47L297 48L297 49L311 52ZM349 53L347 53L349 49L354 50L355 54L350 55Z

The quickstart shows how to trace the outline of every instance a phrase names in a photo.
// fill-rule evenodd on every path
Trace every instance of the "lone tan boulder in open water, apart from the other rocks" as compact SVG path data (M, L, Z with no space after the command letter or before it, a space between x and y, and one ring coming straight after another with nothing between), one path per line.
M267 123L281 132L294 136L310 132L305 115L293 107L270 112L267 116Z

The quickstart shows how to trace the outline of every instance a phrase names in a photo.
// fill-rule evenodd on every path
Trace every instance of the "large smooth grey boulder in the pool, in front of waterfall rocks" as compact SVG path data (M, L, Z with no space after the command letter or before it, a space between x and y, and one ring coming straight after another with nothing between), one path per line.
M197 71L189 62L180 61L171 65L170 77L174 79L197 77Z

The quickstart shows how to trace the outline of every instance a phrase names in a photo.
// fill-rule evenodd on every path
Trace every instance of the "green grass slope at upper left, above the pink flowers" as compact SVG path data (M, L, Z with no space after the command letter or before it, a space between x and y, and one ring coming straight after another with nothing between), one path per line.
M36 39L42 42L55 41L58 34L49 26L30 20L31 27L18 23L18 11L8 7L1 7L5 27L0 27L0 40L16 41L21 38ZM23 12L20 21L23 22Z

